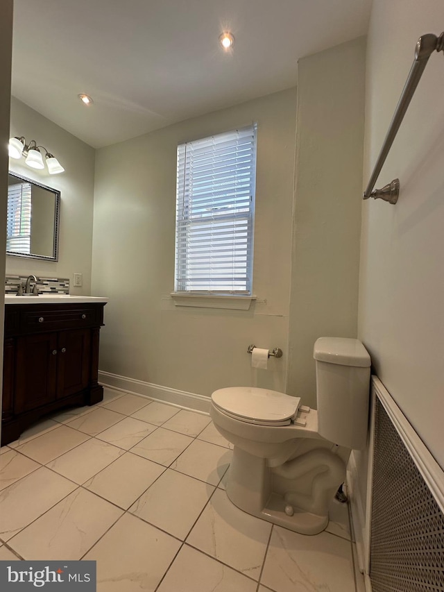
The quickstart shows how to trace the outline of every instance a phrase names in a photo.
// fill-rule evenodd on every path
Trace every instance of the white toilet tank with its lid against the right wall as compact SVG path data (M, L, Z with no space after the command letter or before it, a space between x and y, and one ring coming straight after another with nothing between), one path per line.
M358 339L320 337L314 344L318 432L339 446L366 446L370 355Z

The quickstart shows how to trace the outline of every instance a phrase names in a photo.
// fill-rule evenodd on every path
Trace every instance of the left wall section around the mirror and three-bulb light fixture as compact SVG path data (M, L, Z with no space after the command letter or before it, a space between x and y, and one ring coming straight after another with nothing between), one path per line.
M71 294L91 294L94 158L91 146L14 97L11 99L10 135L24 136L53 153L65 173L31 169L24 158L9 159L10 171L60 191L60 242L58 262L6 257L6 273L69 278ZM72 286L72 274L83 273L83 287Z

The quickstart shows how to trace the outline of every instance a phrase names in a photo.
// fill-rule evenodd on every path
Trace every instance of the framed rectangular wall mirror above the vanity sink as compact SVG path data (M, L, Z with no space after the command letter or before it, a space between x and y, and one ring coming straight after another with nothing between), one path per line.
M60 192L8 175L6 255L58 261Z

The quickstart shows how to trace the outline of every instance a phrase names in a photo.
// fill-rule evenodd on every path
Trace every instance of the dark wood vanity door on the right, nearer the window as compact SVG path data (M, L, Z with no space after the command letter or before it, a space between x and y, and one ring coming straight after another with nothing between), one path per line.
M91 374L91 330L58 334L57 398L85 389Z

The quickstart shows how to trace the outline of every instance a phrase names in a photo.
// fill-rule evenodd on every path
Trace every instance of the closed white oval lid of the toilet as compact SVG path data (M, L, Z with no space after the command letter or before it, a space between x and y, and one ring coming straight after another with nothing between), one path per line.
M300 404L299 397L254 387L219 389L211 398L214 405L228 415L262 425L288 425Z

